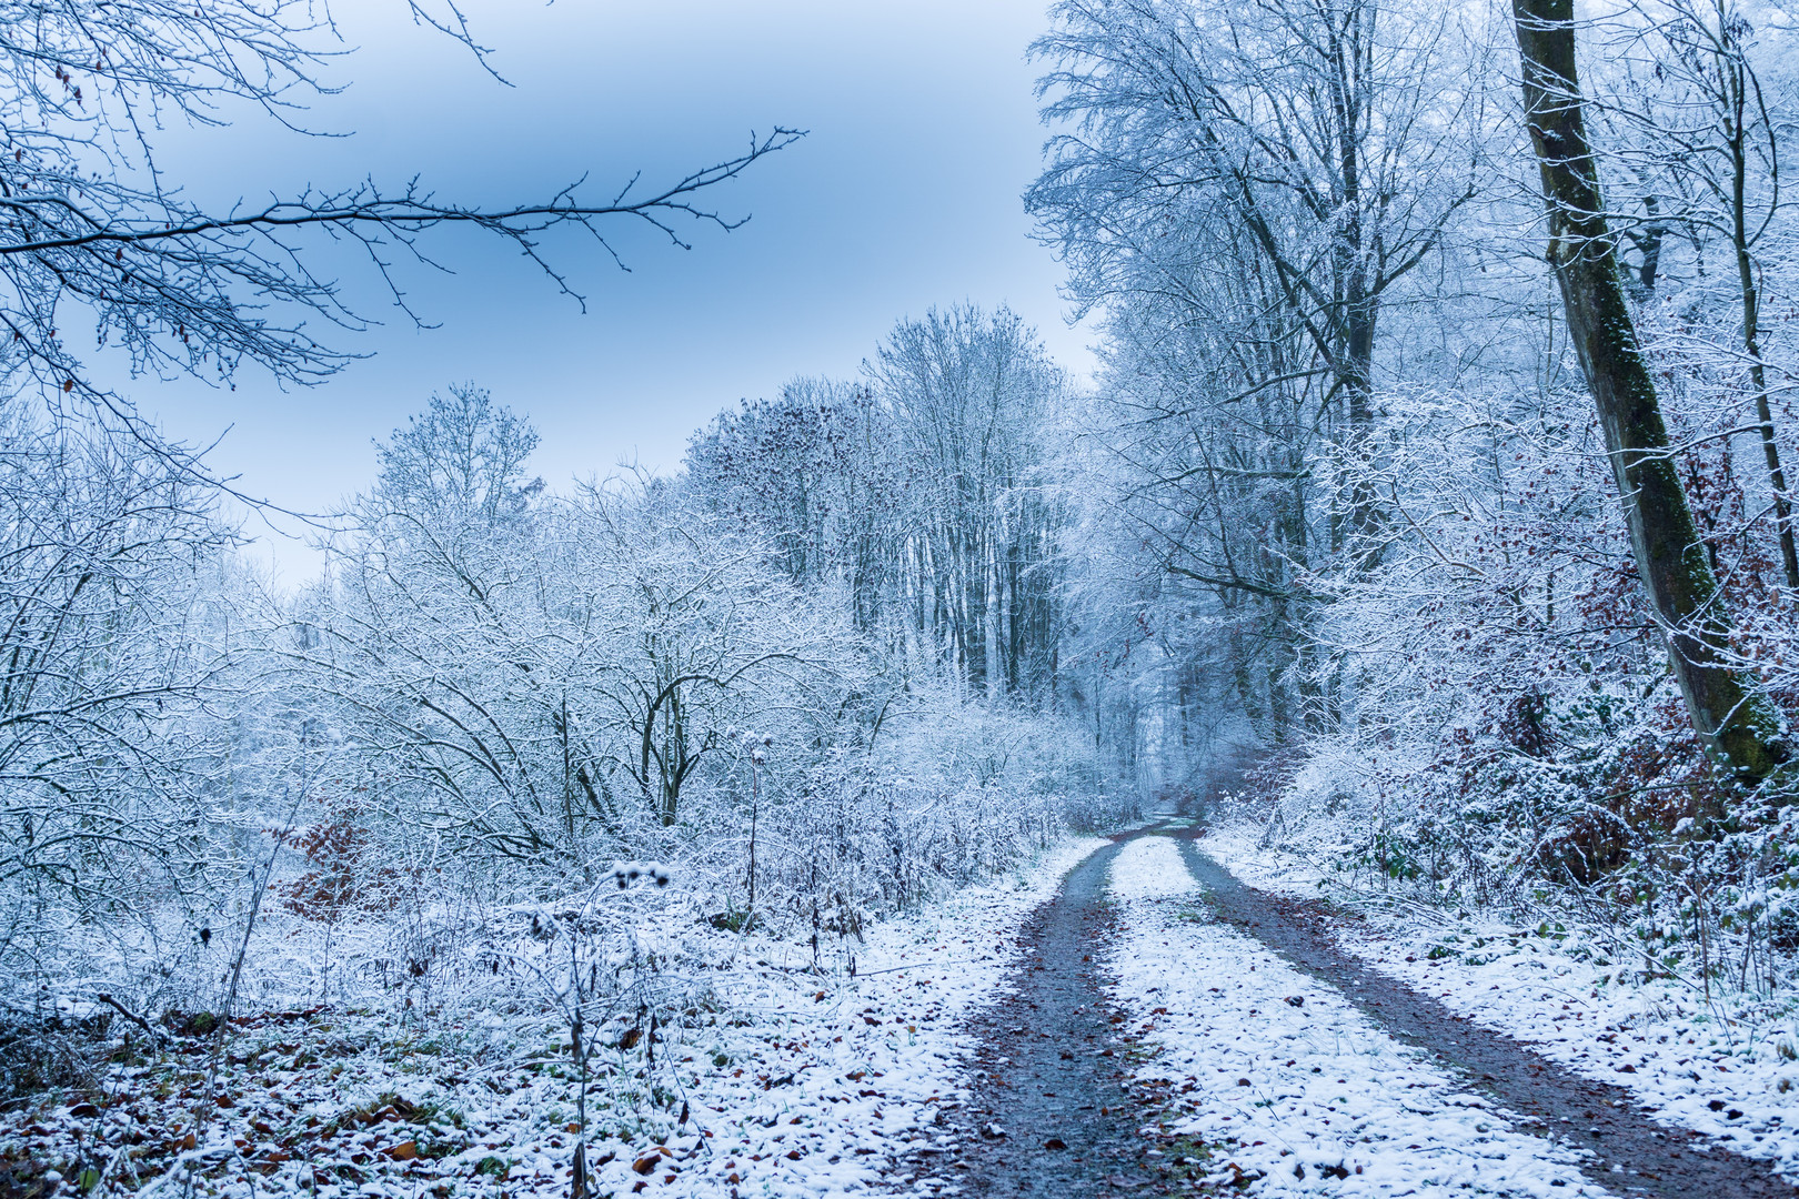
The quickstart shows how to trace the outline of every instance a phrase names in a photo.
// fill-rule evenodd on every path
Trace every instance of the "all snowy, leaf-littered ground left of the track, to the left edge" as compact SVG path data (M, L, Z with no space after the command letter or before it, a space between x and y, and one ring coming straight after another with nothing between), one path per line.
M624 1014L590 1062L590 1185L720 1197L946 1185L932 1161L961 1102L961 1017L1004 985L1024 915L1097 845L1063 841L871 926L846 942L853 974L847 953L815 973L806 940L712 935L693 1005L649 1025ZM210 1082L209 1046L101 1066L97 1093L16 1107L0 1179L13 1170L47 1194L171 1194L189 1174L201 1194L245 1197L568 1194L576 1070L541 1010L259 1016L225 1041Z

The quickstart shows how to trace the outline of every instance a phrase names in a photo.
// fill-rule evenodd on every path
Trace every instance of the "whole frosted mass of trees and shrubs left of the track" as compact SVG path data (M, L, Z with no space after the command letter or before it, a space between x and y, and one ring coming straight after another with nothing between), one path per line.
M619 861L817 947L1115 822L1135 791L1058 699L1069 403L962 307L673 476L549 487L529 421L450 388L299 593L166 446L13 403L9 1005L443 999Z

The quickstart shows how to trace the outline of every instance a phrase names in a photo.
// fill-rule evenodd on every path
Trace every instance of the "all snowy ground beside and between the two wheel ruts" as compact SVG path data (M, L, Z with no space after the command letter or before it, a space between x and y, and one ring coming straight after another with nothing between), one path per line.
M747 951L712 980L718 1010L651 1039L646 1080L633 1082L637 1046L597 1088L586 1138L597 1192L953 1190L939 1163L964 1100L962 1021L1004 992L1024 917L1101 845L1065 845L1007 881L871 928L855 978L808 973L804 946L732 942ZM1256 886L1317 897L1329 883L1245 838L1204 845ZM1112 897L1106 967L1132 1017L1121 1032L1137 1043L1137 1080L1166 1097L1177 1140L1157 1143L1171 1156L1196 1154L1216 1183L1270 1197L1596 1194L1574 1150L1520 1131L1329 985L1213 922L1169 838L1121 850ZM1799 1129L1786 1127L1799 1124L1799 1066L1781 1048L1794 1044L1790 1019L1732 1025L1678 980L1623 983L1578 933L1364 910L1340 935L1378 969L1635 1089L1671 1122L1799 1167ZM243 1199L565 1195L581 1140L574 1088L554 1034L534 1028L500 1016L405 1030L376 1014L266 1014L234 1034L212 1089L210 1043L192 1041L108 1068L99 1098L0 1113L0 1194L43 1183L45 1195L162 1195L185 1192L192 1170L196 1194Z

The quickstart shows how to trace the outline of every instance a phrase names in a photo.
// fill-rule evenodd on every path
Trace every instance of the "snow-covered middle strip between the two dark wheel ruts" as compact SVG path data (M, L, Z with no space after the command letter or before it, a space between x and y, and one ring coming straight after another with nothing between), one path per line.
M1567 1150L1517 1132L1335 989L1209 917L1168 838L1112 865L1114 998L1177 1097L1177 1136L1214 1145L1218 1181L1256 1195L1592 1192Z

